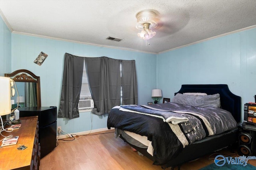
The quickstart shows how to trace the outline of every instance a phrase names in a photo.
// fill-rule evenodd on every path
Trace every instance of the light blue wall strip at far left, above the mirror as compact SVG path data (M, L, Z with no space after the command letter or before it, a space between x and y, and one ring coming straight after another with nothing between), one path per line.
M11 71L11 32L0 17L0 76Z

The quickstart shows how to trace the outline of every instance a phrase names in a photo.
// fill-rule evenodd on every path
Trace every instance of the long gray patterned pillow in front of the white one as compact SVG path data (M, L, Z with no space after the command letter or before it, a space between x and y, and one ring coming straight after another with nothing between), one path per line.
M220 108L220 94L215 95L184 95L177 93L172 98L173 103L190 105L196 107L215 107Z

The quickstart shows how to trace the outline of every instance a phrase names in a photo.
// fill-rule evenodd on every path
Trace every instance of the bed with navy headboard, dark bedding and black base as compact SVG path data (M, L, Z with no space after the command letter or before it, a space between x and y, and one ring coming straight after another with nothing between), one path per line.
M174 95L175 102L114 107L107 126L114 127L116 137L162 168L180 168L185 162L238 142L241 97L231 93L228 85L182 85ZM187 98L182 103L184 97L197 101L196 105L188 105ZM219 106L214 101L213 106L206 102L198 107L198 101L200 104L207 97L214 97ZM220 125L216 124L218 120Z

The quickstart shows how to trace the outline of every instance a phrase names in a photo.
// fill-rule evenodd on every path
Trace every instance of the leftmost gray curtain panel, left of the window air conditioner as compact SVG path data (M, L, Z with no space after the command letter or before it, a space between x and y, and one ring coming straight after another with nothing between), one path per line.
M79 117L78 102L82 86L84 57L65 53L58 117Z

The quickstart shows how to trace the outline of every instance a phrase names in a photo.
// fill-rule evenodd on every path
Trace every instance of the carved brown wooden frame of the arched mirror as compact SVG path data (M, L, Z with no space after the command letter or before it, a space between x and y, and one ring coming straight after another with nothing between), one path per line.
M10 74L5 73L4 76L12 78L14 80L14 82L36 83L37 107L41 107L40 77L36 76L34 73L32 73L31 71L26 70L26 69L19 69Z

